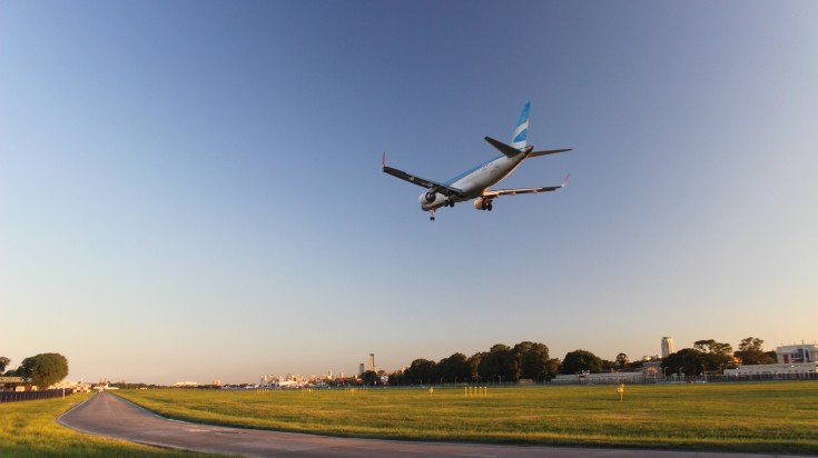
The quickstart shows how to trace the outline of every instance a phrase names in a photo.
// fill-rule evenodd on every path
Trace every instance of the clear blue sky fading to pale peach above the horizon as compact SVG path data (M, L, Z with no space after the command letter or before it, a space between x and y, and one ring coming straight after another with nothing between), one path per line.
M255 381L818 340L818 3L0 1L0 356ZM531 101L494 211L446 180Z

